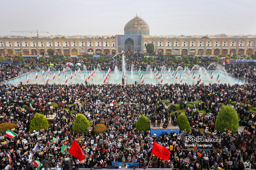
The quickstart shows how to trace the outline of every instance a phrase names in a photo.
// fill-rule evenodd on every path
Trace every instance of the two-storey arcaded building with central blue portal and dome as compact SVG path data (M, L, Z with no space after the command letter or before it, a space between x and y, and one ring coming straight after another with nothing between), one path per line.
M146 53L146 45L153 43L160 55L251 55L255 53L255 38L151 38L149 25L138 16L124 27L124 35L114 38L85 39L0 39L0 55L113 55L132 51Z

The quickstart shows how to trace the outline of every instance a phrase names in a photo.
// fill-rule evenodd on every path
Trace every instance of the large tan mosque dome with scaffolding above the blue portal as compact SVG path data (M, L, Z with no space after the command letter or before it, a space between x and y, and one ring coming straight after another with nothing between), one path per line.
M149 35L149 25L136 16L124 26L124 35Z

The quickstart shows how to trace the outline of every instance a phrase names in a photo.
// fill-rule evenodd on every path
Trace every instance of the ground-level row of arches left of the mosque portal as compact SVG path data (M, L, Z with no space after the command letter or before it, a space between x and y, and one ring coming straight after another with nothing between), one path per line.
M7 55L12 56L12 55L18 55L21 54L20 49L6 49ZM71 50L71 55L84 55L84 54L91 54L91 55L101 55L102 51L101 49L96 49L95 51L93 49L87 49L87 52L85 49L80 49L79 53L77 49L72 49ZM29 51L28 49L23 49L22 51L23 55L37 55L37 50L32 49ZM39 55L48 55L44 49L38 49L38 54ZM110 49L103 49L103 54L105 55L114 55L116 54L116 50L111 50ZM5 50L0 49L0 55L4 56L5 55ZM55 55L70 55L69 49L55 49Z

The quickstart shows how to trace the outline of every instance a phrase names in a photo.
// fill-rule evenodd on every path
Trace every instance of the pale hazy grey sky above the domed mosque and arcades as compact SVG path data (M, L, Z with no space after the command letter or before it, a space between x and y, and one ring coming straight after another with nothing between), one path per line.
M150 35L256 34L256 0L0 0L0 35L116 35L136 16Z

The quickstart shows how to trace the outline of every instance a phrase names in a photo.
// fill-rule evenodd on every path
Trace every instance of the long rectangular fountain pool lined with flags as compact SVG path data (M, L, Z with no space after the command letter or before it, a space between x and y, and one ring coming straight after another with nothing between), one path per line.
M61 73L60 76L58 76L57 72L55 73L55 79L53 80L53 72L45 73L44 76L42 76L41 72L37 72L38 73L38 78L36 80L36 73L35 72L31 72L28 73L28 78L29 78L29 82L28 84L46 84L46 75L48 75L49 77L49 84L65 84L65 75L67 75L68 77L68 82L66 84L76 84L76 83L84 83L84 75L86 75L86 77L88 78L88 72L80 72L77 73L76 77L75 77L75 73L72 72L73 74L73 78L70 79L70 72L66 72L66 73ZM93 76L91 76L91 78L89 80L87 80L88 84L103 84L103 73L105 74L105 72L96 72L94 73ZM144 77L144 84L158 84L159 83L159 79L156 77L156 75L154 74L154 72L142 72L143 73L143 77ZM162 84L171 84L171 83L180 83L180 75L182 76L182 84L183 83L187 83L187 84L196 84L197 80L198 80L198 76L199 73L195 72L196 74L196 78L193 79L192 78L192 73L190 76L188 76L188 73L183 73L183 71L178 71L177 72L177 79L175 79L171 74L169 74L168 72L162 72L160 73L162 74L162 78L163 78L163 82ZM245 82L239 79L236 79L234 77L230 77L228 75L226 75L223 72L218 72L218 71L213 71L213 79L209 78L210 72L207 72L207 75L203 75L203 73L201 73L201 83L204 84L209 84L209 83L218 83L217 82L217 76L219 74L220 77L220 83L230 83L231 85L233 84L244 84ZM111 72L110 75L108 76L108 79L106 81L106 83L112 83L112 84L119 84L122 83L122 76L123 76L123 72ZM125 78L125 83L128 84L134 84L135 81L137 81L138 84L140 83L140 77L139 77L139 73L138 72L126 72L126 78ZM22 82L23 84L26 84L26 75L22 75L20 77L17 77L15 79L12 79L10 81L7 81L3 84L14 84L14 85L18 85L20 84L20 82ZM85 84L85 83L84 83Z

